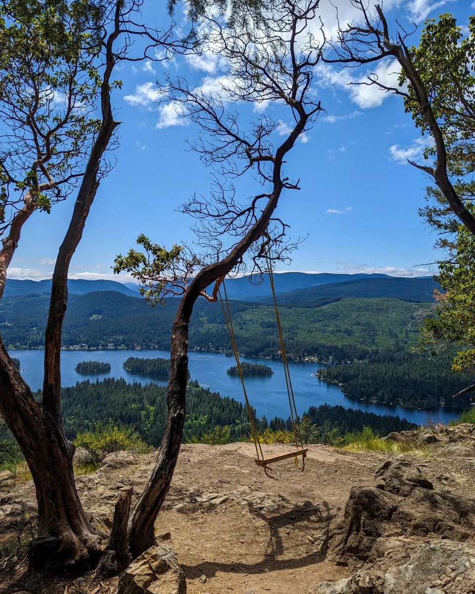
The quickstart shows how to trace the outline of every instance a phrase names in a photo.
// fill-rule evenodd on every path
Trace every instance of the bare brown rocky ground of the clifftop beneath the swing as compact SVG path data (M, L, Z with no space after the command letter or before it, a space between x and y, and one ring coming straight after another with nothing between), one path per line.
M304 472L286 460L273 478L255 465L252 444L183 445L157 539L175 551L190 594L475 592L475 426L393 437L414 451L401 458L311 445ZM132 486L137 497L154 456L111 454L77 478L97 526L110 526L121 492ZM0 546L9 551L0 592L116 591L118 579L94 573L24 576L18 519L34 511L31 482L0 477Z

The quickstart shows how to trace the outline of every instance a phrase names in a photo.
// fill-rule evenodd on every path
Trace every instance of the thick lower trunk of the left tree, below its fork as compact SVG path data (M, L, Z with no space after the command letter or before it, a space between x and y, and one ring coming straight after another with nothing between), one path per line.
M15 406L16 415L7 409ZM0 412L30 468L38 502L38 535L30 569L91 567L101 554L100 536L85 517L72 471L74 448L61 424L42 412L0 339Z

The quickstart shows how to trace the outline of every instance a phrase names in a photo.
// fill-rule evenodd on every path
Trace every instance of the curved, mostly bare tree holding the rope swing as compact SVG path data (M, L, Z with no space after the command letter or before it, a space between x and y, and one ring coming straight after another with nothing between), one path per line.
M320 57L314 36L318 30L318 0L303 4L278 0L263 23L251 29L226 28L219 18L211 17L208 46L227 61L219 90L190 87L183 78L169 79L161 89L179 113L198 124L201 135L194 148L206 165L217 170L211 197L192 197L183 207L197 219L199 255L178 246L168 251L142 235L138 243L144 251L131 249L115 262L116 273L128 271L141 281L149 300L181 296L172 327L166 428L150 481L129 520L133 557L154 544L154 523L178 459L186 415L188 327L197 299L216 301L227 274L260 271L264 236L273 260L285 258L292 247L276 208L283 193L299 189L299 182L284 172L287 155L322 111L312 89ZM264 102L280 106L286 113L283 117L292 121L283 141L277 134L277 129L282 131L280 119L262 115L243 125L233 109ZM248 201L238 199L232 181L245 173L254 175L263 190ZM213 292L208 295L211 285Z

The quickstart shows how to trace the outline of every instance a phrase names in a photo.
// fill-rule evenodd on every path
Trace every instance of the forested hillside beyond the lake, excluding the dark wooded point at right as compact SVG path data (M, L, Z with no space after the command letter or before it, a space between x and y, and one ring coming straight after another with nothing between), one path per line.
M46 295L2 299L0 332L11 348L44 344ZM245 356L278 356L277 328L270 305L230 304L239 352ZM342 299L318 308L282 308L281 323L293 359L353 361L415 344L419 319L429 306L397 299ZM115 292L71 295L62 341L65 346L119 346L167 349L176 300L151 308L140 299ZM229 336L219 304L199 301L192 316L191 349L229 350Z

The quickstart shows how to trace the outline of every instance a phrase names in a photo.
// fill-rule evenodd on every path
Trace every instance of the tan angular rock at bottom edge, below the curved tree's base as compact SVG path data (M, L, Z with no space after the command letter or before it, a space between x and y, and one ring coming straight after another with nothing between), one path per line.
M185 574L169 546L152 546L129 565L118 594L186 594Z

